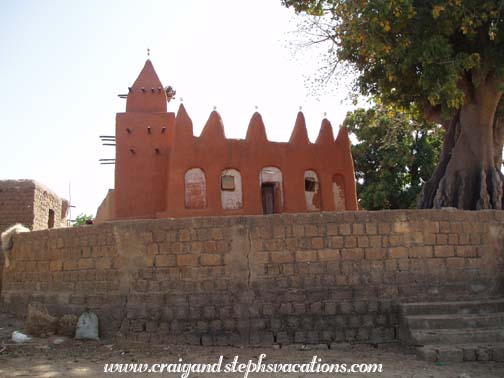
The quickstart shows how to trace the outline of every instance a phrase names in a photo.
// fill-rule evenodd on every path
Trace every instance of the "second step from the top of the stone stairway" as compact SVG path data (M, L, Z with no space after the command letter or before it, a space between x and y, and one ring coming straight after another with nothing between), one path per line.
M504 312L486 315L408 315L404 319L410 330L504 327Z

